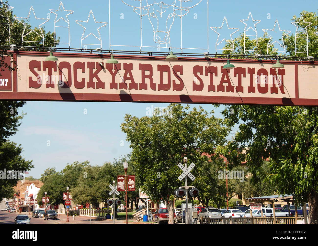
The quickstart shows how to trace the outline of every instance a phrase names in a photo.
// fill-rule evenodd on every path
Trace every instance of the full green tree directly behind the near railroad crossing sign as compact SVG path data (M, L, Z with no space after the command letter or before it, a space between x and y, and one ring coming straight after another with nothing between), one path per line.
M208 160L202 153L211 155L215 146L224 144L228 128L202 107L188 111L189 105L171 104L169 110L169 115L158 113L140 119L126 115L121 129L133 149L131 162L143 183L141 188L153 201L165 203L172 224L174 191L184 184L178 180L178 163L187 156L189 163L196 164L191 171L196 176L197 168Z

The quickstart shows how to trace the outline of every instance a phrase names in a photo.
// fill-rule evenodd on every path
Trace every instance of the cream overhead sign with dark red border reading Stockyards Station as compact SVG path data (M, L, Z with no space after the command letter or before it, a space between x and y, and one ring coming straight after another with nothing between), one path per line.
M225 58L13 53L17 70L1 71L1 100L318 105L318 62ZM10 58L6 57L10 63ZM12 62L13 65L13 62Z

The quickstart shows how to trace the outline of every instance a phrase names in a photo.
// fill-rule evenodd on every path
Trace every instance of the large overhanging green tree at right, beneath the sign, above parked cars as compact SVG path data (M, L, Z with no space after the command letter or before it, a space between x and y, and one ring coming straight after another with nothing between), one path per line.
M280 194L293 194L296 203L308 202L310 223L317 224L318 109L228 105L223 115L231 126L243 121L234 141L239 150L246 150L252 182L264 180ZM267 158L268 170L264 170Z

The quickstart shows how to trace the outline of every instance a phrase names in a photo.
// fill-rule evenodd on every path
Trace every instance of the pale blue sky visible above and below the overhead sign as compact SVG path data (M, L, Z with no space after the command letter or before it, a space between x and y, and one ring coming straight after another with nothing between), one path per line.
M126 0L126 3L133 6L140 6L140 1ZM148 3L154 1L148 0ZM159 2L159 1L156 1ZM165 3L173 2L163 1ZM199 0L190 3L183 3L183 7L193 6ZM275 20L278 19L281 30L295 32L295 26L291 24L291 18L302 10L317 11L317 1L306 1L301 5L299 1L201 1L199 5L189 9L189 13L182 18L182 47L183 52L215 53L217 34L208 27L221 27L223 18L226 17L229 27L239 28L233 34L238 37L244 31L245 24L240 22L249 17L252 13L254 20L260 20L256 25L258 36L263 36L262 29L273 29ZM55 15L50 9L58 10L60 1L17 1L10 0L10 6L14 7L13 13L17 17L27 17L31 8L35 11L37 18L50 18L45 24L45 30L54 32ZM146 0L142 5L146 5ZM74 12L68 16L70 23L71 48L81 48L81 36L83 27L75 20L87 21L90 10L92 10L96 22L107 22L107 25L100 29L102 48L109 49L109 28L110 44L114 50L140 50L140 16L134 12L132 7L125 5L120 0L110 0L110 22L108 1L63 1L65 10ZM208 7L209 6L209 7ZM63 9L63 8L62 8ZM209 11L209 16L207 16ZM59 17L65 17L70 12L59 11ZM163 13L163 18L165 14ZM58 18L59 18L58 17ZM253 26L252 17L246 21L247 28ZM38 20L31 10L30 23L35 27L46 20ZM165 19L159 19L159 29L165 27ZM208 22L209 20L209 22ZM88 23L79 22L86 27L84 37L92 32L98 36L97 28L105 23L95 23L90 16ZM154 24L154 22L153 22ZM170 45L181 47L180 18L175 18L170 30ZM156 26L156 23L155 23ZM224 23L222 29L215 29L220 33L219 41L223 38L230 38L230 33L235 30L227 29ZM57 28L57 35L61 42L68 42L66 29ZM209 42L208 40L209 35ZM274 39L281 37L281 32L276 25L275 31L271 32ZM100 43L96 38L88 37L87 43ZM142 17L142 47L143 51L168 51L164 44L154 42L154 32L147 16ZM161 37L163 40L164 37ZM224 41L225 42L225 41ZM224 42L221 46L223 46ZM118 46L117 46L118 45ZM120 46L122 45L122 46ZM124 46L125 45L125 46ZM59 47L68 47L68 44L60 44ZM136 47L139 46L139 47ZM87 49L96 48L97 45L87 45ZM168 46L169 48L169 46ZM185 48L197 48L185 49ZM221 48L221 47L218 47ZM181 49L175 49L181 52ZM218 51L219 53L221 51ZM88 160L92 165L101 165L104 162L112 162L114 158L130 152L129 143L126 142L126 135L121 132L120 124L123 122L126 113L142 117L146 116L146 108L154 105L166 107L164 103L105 103L105 102L27 102L19 110L19 113L27 113L18 128L17 134L10 137L10 140L21 144L24 149L24 157L33 160L35 166L29 175L39 178L47 168L55 167L62 170L67 163L74 161ZM193 104L193 106L198 106ZM205 104L204 109L208 112L214 109L213 105ZM220 111L223 107L215 110L215 115L221 117ZM87 110L87 114L84 114ZM50 141L50 146L48 145ZM123 144L123 146L121 146Z

